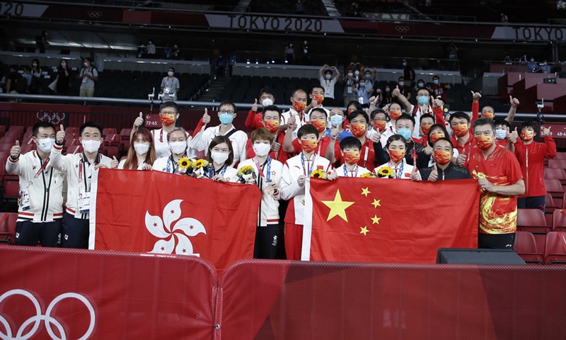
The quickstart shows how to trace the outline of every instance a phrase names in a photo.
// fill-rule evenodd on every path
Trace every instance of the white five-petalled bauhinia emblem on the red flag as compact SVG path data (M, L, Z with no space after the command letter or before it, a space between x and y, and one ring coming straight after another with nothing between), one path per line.
M192 252L192 243L190 243L189 237L194 237L200 233L206 234L207 230L195 218L185 217L179 220L181 202L183 200L169 202L163 209L163 220L159 216L149 215L149 211L146 212L147 230L160 239L155 242L154 249L150 253L173 254L174 249L175 254L200 256L200 254ZM173 224L173 222L175 223ZM173 227L171 227L172 224ZM176 242L175 238L177 239Z

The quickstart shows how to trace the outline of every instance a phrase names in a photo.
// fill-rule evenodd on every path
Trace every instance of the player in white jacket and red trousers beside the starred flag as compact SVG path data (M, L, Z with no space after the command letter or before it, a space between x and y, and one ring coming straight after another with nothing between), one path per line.
M324 112L324 111L323 111ZM330 161L316 154L319 135L313 125L304 125L297 131L301 153L287 159L283 167L281 188L282 200L291 200L285 215L285 251L288 260L301 259L301 244L304 225L305 181L314 171L328 173Z

